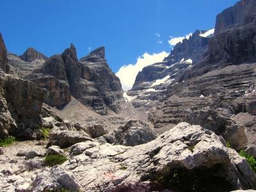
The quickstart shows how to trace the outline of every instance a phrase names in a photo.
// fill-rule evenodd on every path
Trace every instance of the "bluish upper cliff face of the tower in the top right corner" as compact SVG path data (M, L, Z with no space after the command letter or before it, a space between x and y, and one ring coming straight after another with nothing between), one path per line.
M234 6L227 8L216 17L215 34L227 29L234 24L239 24L256 12L256 1L241 0Z

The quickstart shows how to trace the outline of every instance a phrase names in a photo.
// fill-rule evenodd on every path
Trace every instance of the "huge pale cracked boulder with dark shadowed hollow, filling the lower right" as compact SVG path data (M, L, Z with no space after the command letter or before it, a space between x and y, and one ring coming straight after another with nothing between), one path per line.
M72 152L63 164L76 175L83 191L256 188L255 173L246 159L225 147L221 136L198 125L180 123L135 147L89 144L84 143L77 154Z

